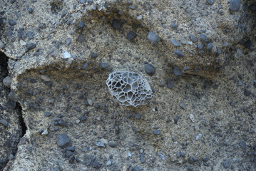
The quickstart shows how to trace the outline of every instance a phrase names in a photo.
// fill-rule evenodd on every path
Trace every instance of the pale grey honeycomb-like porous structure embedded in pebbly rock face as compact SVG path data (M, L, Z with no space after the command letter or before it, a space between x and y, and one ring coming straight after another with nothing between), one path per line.
M116 71L108 75L108 90L121 105L138 107L153 98L148 81L131 71Z

